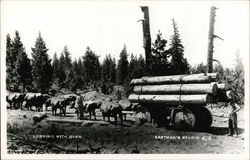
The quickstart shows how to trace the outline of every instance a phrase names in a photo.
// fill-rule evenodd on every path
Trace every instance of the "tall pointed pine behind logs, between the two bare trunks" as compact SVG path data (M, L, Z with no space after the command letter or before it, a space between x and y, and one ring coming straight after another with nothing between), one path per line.
M187 74L189 73L188 62L187 59L183 57L184 47L182 45L179 30L177 28L177 24L173 19L173 28L174 34L171 37L171 43L169 52L172 55L171 58L171 74Z

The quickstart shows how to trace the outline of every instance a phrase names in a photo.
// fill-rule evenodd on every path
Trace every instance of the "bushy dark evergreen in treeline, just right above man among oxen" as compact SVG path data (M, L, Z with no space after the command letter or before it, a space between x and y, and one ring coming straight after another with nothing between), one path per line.
M83 68L85 81L87 83L96 83L101 78L99 56L97 56L89 47L87 47L83 56Z

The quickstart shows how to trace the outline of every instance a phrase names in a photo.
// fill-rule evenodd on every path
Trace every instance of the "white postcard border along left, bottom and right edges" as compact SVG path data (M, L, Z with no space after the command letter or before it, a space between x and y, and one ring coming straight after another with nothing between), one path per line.
M2 2L2 1L1 1ZM60 1L56 1L60 2ZM94 1L95 3L131 3L132 5L153 5L155 2L153 1ZM160 2L160 1L157 1ZM171 2L171 1L170 1ZM189 2L189 1L185 1ZM193 1L190 1L193 2ZM223 1L219 1L222 3ZM228 2L228 1L226 1ZM248 1L249 2L249 1ZM1 5L1 16L4 16L4 8ZM2 23L1 23L1 33L2 33ZM186 159L186 160L249 160L249 55L248 55L248 63L245 65L245 128L244 128L244 153L241 154L100 154L100 155L88 155L88 154L7 154L7 138L6 138L6 67L5 67L5 39L6 35L1 34L1 157L2 159Z

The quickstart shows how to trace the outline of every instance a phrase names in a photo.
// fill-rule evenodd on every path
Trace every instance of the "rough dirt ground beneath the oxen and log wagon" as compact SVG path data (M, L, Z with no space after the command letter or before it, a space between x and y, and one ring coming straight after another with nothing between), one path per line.
M67 108L66 117L47 117L34 124L38 112L8 109L8 153L242 153L244 150L244 110L238 113L239 137L228 133L227 108L209 107L213 124L207 132L183 132L157 128L151 124L138 126L133 116L124 125L103 124L83 120L83 124L54 123L49 119L76 120L74 109ZM223 118L224 117L224 118ZM113 121L113 119L111 119ZM99 123L100 122L100 123Z

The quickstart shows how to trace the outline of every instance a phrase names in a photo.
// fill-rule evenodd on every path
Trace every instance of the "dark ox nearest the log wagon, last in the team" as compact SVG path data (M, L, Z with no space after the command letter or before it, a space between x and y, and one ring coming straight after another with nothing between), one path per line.
M115 123L117 123L118 115L122 124L122 107L117 102L112 101L112 99L104 100L101 104L100 111L102 112L104 121L105 117L108 117L108 121L110 121L110 116L113 116Z

